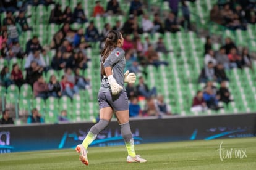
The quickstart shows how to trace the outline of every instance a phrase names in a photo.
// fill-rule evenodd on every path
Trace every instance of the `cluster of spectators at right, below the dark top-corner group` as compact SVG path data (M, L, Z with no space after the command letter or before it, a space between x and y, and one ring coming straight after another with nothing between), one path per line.
M233 101L233 97L231 97L227 83L234 80L229 79L226 72L233 68L243 69L245 67L254 69L246 47L239 53L236 44L227 37L223 46L215 52L212 49L211 38L207 37L204 67L198 78L199 83L207 85L203 91L197 92L190 110L192 112L202 112L207 109L219 110L222 106L218 105L218 102L223 102L228 106L229 102ZM213 85L217 83L220 84L219 89Z

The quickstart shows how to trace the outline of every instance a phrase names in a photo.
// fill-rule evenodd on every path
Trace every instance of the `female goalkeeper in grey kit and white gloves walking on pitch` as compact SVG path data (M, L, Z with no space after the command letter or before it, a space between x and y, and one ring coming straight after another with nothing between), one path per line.
M130 131L128 99L124 82L134 83L134 73L126 71L124 67L126 60L124 51L121 49L124 38L119 31L110 31L106 37L105 47L101 52L101 87L98 93L100 106L100 121L91 127L82 144L77 145L75 150L79 153L79 159L83 164L88 165L87 148L98 134L108 126L109 121L116 113L117 121L121 127L121 134L128 152L128 163L143 163L147 160L136 155L134 150L134 139ZM124 75L123 75L124 73Z

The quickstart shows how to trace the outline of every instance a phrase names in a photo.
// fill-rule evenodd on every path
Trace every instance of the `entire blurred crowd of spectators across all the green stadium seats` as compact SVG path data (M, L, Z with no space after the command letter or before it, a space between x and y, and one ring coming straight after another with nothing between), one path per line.
M190 0L194 2L193 0ZM95 1L93 12L85 15L82 3L78 2L74 9L66 6L62 10L62 4L55 4L53 0L30 0L30 1L1 1L0 12L6 12L6 18L0 25L0 58L7 61L0 74L0 83L8 87L10 84L16 84L21 87L28 83L33 88L34 97L46 99L49 96L61 97L67 95L72 98L82 89L90 89L90 79L83 76L83 71L88 67L90 57L87 55L87 49L95 47L95 42L100 42L100 49L104 46L106 35L111 30L119 30L124 36L123 49L126 51L126 70L134 72L139 77L139 84L127 84L126 90L130 100L130 116L161 116L171 115L170 107L164 102L163 96L157 93L156 88L148 87L143 78L147 78L145 68L153 65L158 68L160 65L169 63L160 60L158 52L167 53L168 50L163 42L164 33L176 33L183 28L192 29L190 23L190 10L185 0L170 0L170 12L166 18L160 17L160 14L154 13L153 20L145 10L140 0L132 0L130 9L121 9L117 0L108 1L106 7L101 5L102 1ZM181 7L179 7L181 2ZM25 31L33 31L33 25L28 25L26 8L28 5L54 6L49 16L49 24L60 25L51 38L49 47L42 47L38 36L33 37L26 42L25 49L22 49L19 42L19 36ZM178 12L182 12L182 17L178 17ZM17 16L14 15L17 12ZM245 12L245 13L244 13ZM210 18L213 22L227 26L235 30L237 28L246 29L247 23L255 23L254 6L250 2L237 1L236 6L233 3L214 6L210 12ZM116 25L111 28L110 23L106 23L103 30L97 28L93 17L106 17L108 15L124 15L127 20L122 25L120 20L116 20ZM139 24L139 18L142 23ZM73 23L88 23L87 28L72 29ZM182 28L183 27L183 28ZM160 33L158 42L150 41L150 36ZM142 43L141 34L148 33L145 42ZM98 48L98 47L96 47ZM51 58L48 50L55 49L56 53ZM22 65L9 65L13 59L23 60ZM202 106L200 110L207 108L218 110L218 101L229 103L232 99L226 87L226 81L229 81L226 71L232 68L252 68L250 55L245 48L239 55L236 45L230 38L226 43L215 52L212 49L211 38L207 39L205 44L205 67L200 74L199 81L207 83L203 91L198 91L194 98L193 109L198 110L197 106ZM25 70L25 71L24 71ZM61 78L52 75L49 79L45 76L49 70L63 71ZM213 81L221 83L218 91L213 91ZM145 99L145 107L140 108L139 99ZM32 111L33 112L33 111ZM38 111L34 110L30 118L33 121L42 121ZM62 113L65 118L65 111ZM33 116L35 115L35 116ZM7 116L6 116L7 117ZM61 118L60 118L61 119Z

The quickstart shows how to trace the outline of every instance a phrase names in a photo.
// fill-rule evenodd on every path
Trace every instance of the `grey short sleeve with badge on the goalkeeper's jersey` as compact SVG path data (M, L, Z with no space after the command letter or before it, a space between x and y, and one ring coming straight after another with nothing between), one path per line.
M120 48L114 49L109 55L108 58L103 63L105 67L113 67L114 64L119 62L124 57L124 50Z

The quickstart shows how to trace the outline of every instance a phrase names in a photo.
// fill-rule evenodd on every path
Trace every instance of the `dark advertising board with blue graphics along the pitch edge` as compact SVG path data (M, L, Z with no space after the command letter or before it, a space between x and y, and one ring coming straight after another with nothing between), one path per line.
M93 124L0 126L0 153L74 148ZM256 114L139 119L130 125L135 144L256 136ZM95 147L113 145L124 145L116 121L92 143Z

